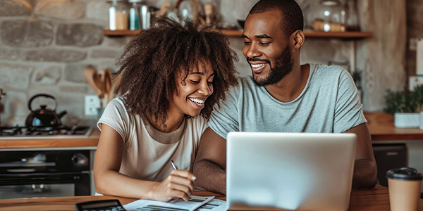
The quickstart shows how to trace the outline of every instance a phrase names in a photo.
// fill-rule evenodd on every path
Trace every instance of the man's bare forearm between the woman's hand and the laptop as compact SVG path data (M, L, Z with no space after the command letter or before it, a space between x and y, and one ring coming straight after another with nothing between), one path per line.
M197 176L195 186L226 195L226 171L209 160L195 162L192 172Z

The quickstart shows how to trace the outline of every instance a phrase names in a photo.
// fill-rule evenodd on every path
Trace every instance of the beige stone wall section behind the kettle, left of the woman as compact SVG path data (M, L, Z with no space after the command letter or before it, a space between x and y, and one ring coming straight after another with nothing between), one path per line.
M130 37L109 38L106 1L0 1L0 88L3 125L23 125L30 113L27 101L40 93L56 97L57 111L67 110L64 124L94 125L84 114L84 96L94 94L82 70L87 65L116 70ZM54 108L54 101L32 103Z

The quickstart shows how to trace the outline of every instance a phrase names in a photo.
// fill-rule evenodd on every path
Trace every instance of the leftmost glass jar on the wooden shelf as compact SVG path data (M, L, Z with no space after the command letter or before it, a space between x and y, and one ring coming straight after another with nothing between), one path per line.
M128 8L123 0L108 0L109 30L128 30Z

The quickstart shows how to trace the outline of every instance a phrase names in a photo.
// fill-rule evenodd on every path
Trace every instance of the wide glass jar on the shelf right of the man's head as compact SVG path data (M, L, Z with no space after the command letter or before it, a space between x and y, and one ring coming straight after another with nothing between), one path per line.
M346 9L339 0L321 0L313 13L316 31L345 32Z

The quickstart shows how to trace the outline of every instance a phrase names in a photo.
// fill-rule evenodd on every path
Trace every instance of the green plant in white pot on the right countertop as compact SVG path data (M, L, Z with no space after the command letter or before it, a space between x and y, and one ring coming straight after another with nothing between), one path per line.
M391 91L387 90L385 96L386 113L393 114L394 126L398 128L414 128L420 126L419 111L423 103L423 87L416 87L419 91ZM420 91L422 90L422 91Z

